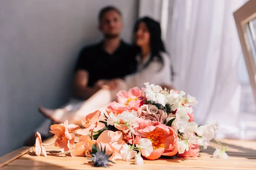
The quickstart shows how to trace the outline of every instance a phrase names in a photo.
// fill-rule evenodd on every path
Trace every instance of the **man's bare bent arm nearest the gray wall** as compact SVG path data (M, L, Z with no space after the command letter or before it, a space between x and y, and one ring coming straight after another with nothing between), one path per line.
M74 81L74 95L76 97L87 99L100 89L98 86L88 87L88 79L89 73L87 71L80 69L76 72Z

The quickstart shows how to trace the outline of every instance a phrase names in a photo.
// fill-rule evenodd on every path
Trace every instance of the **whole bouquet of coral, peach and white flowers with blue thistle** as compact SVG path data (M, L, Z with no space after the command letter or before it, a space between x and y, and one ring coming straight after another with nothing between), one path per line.
M197 103L183 91L169 91L147 82L142 89L119 91L105 113L95 111L81 119L84 128L65 121L52 125L50 132L55 134L54 145L61 152L70 150L71 156L89 157L96 167L107 167L115 159L134 158L135 164L143 164L142 156L149 160L197 157L200 146L206 149L218 130L218 123L198 126L193 122L192 106ZM75 130L81 135L78 142ZM44 145L37 132L36 155L47 156ZM221 146L213 157L228 157L227 146Z

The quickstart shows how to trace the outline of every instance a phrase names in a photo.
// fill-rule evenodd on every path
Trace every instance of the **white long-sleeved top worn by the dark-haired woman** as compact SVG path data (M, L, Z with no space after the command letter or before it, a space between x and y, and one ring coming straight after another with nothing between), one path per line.
M143 59L141 59L139 55L137 56L137 72L125 77L128 88L142 88L145 86L145 82L155 85L172 85L171 59L169 55L165 52L161 52L160 56L163 59L163 63L154 57L150 64L145 67L150 55L151 54L148 54L148 56Z

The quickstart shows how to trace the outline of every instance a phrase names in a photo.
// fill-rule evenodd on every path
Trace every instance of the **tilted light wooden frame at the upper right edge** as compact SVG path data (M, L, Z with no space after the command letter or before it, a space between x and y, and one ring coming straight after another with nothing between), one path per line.
M241 8L233 13L236 28L239 34L241 48L247 67L250 84L253 90L254 101L256 102L256 65L253 59L252 46L250 45L247 24L256 18L256 0L249 0Z

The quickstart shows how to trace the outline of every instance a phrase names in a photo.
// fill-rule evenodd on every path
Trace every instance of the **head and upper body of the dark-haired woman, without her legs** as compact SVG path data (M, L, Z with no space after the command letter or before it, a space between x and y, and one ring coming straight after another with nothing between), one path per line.
M125 78L128 88L143 87L144 82L172 87L172 65L161 40L160 24L149 17L138 20L134 26L138 47L137 72Z

